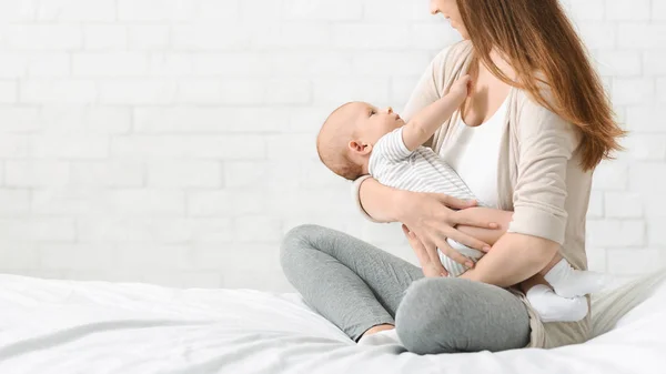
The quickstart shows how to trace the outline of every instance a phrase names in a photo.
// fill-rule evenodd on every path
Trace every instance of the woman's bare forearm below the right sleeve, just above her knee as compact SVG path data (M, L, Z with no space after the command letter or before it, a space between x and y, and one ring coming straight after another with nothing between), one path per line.
M506 233L461 277L501 287L518 284L544 269L559 244L543 237Z

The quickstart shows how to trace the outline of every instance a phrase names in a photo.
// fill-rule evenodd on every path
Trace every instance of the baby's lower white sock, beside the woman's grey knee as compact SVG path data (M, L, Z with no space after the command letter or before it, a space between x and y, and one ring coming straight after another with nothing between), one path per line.
M576 322L588 312L587 299L558 296L545 284L537 284L525 295L543 322Z

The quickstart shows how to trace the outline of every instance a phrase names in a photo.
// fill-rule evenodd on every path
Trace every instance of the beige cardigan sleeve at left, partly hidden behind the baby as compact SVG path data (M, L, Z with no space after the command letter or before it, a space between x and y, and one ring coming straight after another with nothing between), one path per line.
M437 55L431 61L428 67L425 69L425 72L421 75L416 88L414 89L414 91L412 91L412 95L405 104L403 113L401 113L401 117L406 122L408 122L410 119L420 110L430 105L431 103L435 102L442 97L444 92L444 70L448 50L450 48L445 48L440 53L437 53ZM428 141L425 145L428 145L430 143L431 141ZM370 175L363 175L353 182L352 199L357 210L365 219L372 222L380 222L370 216L370 214L367 214L367 212L363 209L363 205L361 204L361 183L363 183L363 181L365 181L367 178L370 178Z

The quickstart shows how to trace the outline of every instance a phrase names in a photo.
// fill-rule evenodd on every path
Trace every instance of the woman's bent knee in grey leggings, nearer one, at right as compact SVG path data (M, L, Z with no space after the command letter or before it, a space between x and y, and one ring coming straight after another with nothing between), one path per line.
M525 346L529 320L509 292L462 279L414 282L395 315L405 348L418 354L492 352Z

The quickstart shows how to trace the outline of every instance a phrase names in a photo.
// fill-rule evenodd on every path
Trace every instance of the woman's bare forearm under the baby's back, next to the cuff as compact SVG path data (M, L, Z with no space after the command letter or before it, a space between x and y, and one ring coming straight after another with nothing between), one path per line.
M383 185L373 178L361 183L359 199L361 208L380 222L400 221L400 203L397 202L401 191Z

